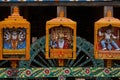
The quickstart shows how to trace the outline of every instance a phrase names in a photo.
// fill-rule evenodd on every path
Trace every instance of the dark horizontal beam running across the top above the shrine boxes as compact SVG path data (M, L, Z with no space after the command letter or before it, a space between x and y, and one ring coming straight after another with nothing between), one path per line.
M0 2L0 6L115 6L120 7L120 1L86 1L86 2Z

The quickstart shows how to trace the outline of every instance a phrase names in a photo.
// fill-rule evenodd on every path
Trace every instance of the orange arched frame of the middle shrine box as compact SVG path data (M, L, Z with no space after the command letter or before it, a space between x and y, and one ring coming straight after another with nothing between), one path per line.
M70 55L73 55L73 57L69 57L70 55L68 55L68 57L66 55L63 55L66 57L59 57L59 54L57 56L53 56L53 55L52 57L49 56L50 55L49 53L49 30L56 26L59 27L60 25L69 27L73 30L73 54L70 54ZM59 51L61 49L55 49L55 51L56 50ZM54 18L46 22L46 59L76 59L76 22L75 21L72 21L71 19L68 19L65 17L57 17L57 18Z

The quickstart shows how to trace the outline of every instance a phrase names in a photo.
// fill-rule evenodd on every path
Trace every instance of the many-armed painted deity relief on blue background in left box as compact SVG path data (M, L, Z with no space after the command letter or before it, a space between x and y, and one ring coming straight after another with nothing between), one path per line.
M24 49L26 47L26 36L22 30L4 30L5 49Z

